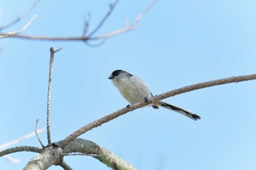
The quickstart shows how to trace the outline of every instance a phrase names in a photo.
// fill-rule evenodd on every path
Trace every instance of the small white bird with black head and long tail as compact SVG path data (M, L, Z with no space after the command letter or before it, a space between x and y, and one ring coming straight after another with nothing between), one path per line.
M115 70L110 74L108 79L112 80L113 84L118 88L121 95L129 102L129 104L135 104L140 101L148 101L149 98L153 97L151 91L148 89L147 85L128 72L121 69ZM200 116L195 115L195 113L189 112L186 109L173 106L172 104L167 104L163 101L158 101L151 105L154 109L159 109L159 107L165 107L166 109L173 110L175 112L181 113L192 120L200 119ZM127 106L129 107L129 105Z

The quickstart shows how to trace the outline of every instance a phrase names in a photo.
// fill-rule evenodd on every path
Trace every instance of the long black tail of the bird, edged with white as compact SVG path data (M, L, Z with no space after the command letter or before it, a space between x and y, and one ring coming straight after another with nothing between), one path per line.
M185 115L185 116L189 117L192 120L200 119L200 116L195 115L195 113L189 112L185 109L181 109L180 107L173 106L172 104L167 104L163 101L159 101L158 103L159 103L160 107L165 107L166 109L171 109L175 112L181 113L182 115Z

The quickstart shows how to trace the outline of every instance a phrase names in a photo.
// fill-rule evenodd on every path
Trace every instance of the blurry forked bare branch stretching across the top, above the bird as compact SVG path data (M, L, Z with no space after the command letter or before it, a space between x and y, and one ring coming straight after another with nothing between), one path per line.
M141 18L144 17L144 15L146 15L146 13L152 8L154 7L154 4L157 3L157 0L153 0L152 3L143 11L141 12L136 18L135 20L125 26L124 28L118 29L116 31L111 31L108 34L104 34L102 36L92 36L94 35L98 29L102 26L103 23L105 23L105 20L107 20L108 16L110 15L110 13L113 10L113 5L114 7L116 6L117 1L115 1L114 4L112 4L112 7L110 6L110 11L107 13L107 15L105 15L105 18L102 19L102 21L99 23L99 25L94 29L94 31L91 32L91 34L89 34L89 36L77 36L77 37L49 37L49 36L27 36L27 35L15 35L12 37L15 38L20 38L20 39L33 39L33 40L46 40L46 41L82 41L82 42L87 42L89 40L99 40L99 39L108 39L112 36L116 36L119 34L124 34L127 31L130 31L134 28L136 28L138 26L138 24L140 23ZM88 26L86 26L88 27ZM87 31L87 28L85 28Z

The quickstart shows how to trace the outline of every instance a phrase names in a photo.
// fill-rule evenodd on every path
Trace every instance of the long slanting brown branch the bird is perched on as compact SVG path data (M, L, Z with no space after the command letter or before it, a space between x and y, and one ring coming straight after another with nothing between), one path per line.
M208 81L208 82L201 82L201 83L198 83L195 85L186 86L184 88L178 88L176 90L171 90L171 91L168 91L167 93L162 93L158 96L154 96L154 97L148 99L148 102L140 101L137 104L130 105L129 108L124 107L123 109L119 109L118 111L113 112L110 115L102 117L99 120L95 120L94 122L83 126L82 128L78 129L77 131L75 131L72 134L70 134L69 136L67 136L67 138L64 139L63 142L61 142L61 146L62 147L67 146L67 144L72 142L72 140L74 140L81 134L84 134L84 133L86 133L86 131L90 131L91 129L96 128L99 125L102 125L103 123L107 123L110 120L116 119L116 117L124 115L127 112L133 111L140 107L145 107L146 105L149 105L151 103L157 103L157 101L160 101L162 99L169 98L171 96L176 96L178 94L186 93L186 92L189 92L192 90L208 88L208 87L215 86L215 85L224 85L224 84L231 83L231 82L243 82L243 81L255 80L255 79L256 79L256 74L250 74L250 75L238 76L238 77L229 77L229 78L224 78L224 79L219 79L219 80L212 80L212 81Z

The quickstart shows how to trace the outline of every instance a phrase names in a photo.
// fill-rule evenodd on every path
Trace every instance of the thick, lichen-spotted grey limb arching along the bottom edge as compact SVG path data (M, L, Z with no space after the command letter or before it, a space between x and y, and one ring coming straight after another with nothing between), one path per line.
M53 165L60 165L61 167L71 169L67 163L63 162L63 157L64 155L74 152L82 153L83 155L90 155L111 169L136 170L135 167L119 158L117 155L89 140L75 139L68 144L67 147L64 147L63 150L61 147L56 147L59 143L61 142L55 143L54 147L45 147L42 152L29 161L23 170L43 170L48 169Z

